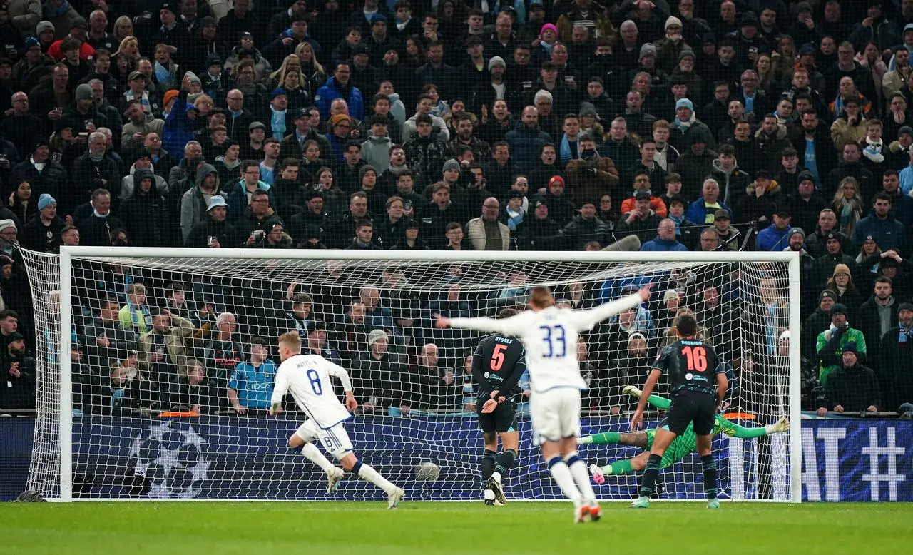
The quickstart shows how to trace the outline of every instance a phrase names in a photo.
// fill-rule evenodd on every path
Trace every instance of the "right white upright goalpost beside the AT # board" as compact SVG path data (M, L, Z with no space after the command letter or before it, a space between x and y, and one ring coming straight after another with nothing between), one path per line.
M790 258L790 502L802 502L802 291L799 256Z

